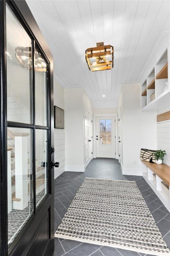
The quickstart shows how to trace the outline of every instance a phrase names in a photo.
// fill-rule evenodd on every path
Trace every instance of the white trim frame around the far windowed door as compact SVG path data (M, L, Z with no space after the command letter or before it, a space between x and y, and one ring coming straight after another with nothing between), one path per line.
M116 159L118 159L118 113L115 114L94 114L93 115L93 158L96 158L96 117L115 117L115 134L116 134Z

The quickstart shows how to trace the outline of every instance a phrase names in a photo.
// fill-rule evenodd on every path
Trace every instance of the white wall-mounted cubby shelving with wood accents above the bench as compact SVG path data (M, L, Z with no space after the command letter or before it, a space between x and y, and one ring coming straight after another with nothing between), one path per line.
M157 110L169 106L168 49L160 57L141 86L141 110Z

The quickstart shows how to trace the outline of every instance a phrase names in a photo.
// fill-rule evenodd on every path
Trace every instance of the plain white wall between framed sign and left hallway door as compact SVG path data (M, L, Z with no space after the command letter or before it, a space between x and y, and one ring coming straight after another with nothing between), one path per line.
M65 105L65 170L84 172L84 108L92 104L82 87L64 89Z

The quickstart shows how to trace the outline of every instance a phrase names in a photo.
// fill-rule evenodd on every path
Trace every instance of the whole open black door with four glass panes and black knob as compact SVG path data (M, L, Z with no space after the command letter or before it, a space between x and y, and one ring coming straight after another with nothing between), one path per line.
M1 255L52 255L52 56L25 1L0 12Z

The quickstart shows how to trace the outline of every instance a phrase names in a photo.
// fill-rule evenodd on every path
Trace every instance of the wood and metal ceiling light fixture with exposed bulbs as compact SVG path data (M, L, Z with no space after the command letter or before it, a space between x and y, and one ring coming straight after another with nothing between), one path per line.
M97 47L86 50L86 62L89 70L101 71L113 68L114 48L112 45L104 45L104 42L97 43ZM109 58L109 59L107 59ZM93 59L95 61L93 62Z

